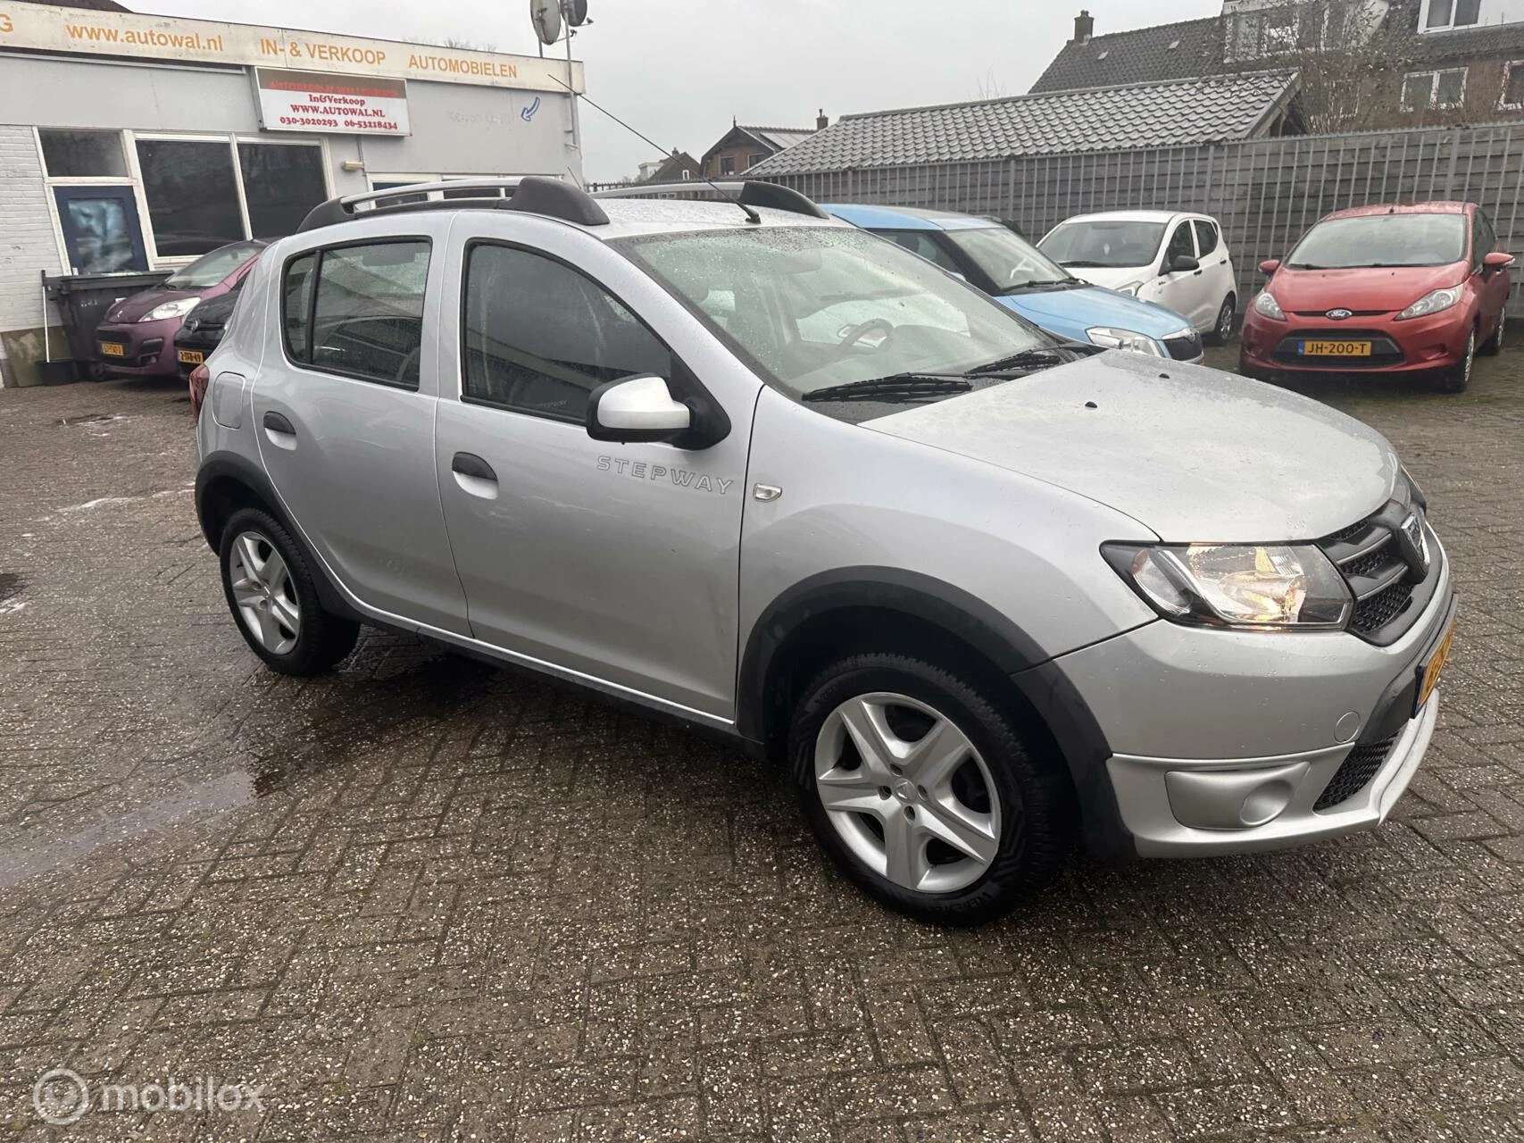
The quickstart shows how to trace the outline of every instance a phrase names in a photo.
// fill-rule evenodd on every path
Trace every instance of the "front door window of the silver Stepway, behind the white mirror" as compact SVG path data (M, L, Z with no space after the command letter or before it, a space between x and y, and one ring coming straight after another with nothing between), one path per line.
M582 424L594 389L672 376L672 354L625 305L561 262L503 245L466 258L463 396Z

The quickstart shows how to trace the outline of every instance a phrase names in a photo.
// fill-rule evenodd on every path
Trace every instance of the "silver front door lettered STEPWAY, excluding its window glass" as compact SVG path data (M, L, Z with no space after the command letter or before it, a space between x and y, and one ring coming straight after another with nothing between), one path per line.
M445 343L460 346L460 395L442 384L437 465L471 631L678 713L730 718L754 387L725 405L730 433L703 451L593 440L588 395L608 381L655 375L693 392L637 312L671 299L568 227L497 226L544 247L472 242L451 273L463 299L447 311L463 325Z

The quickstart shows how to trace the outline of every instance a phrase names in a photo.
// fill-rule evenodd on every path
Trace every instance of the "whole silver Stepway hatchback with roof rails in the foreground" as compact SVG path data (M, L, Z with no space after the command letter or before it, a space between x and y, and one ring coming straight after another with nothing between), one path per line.
M783 187L474 186L320 206L210 360L197 507L273 669L369 623L730 736L937 922L1076 840L1265 850L1407 788L1454 599L1370 428Z

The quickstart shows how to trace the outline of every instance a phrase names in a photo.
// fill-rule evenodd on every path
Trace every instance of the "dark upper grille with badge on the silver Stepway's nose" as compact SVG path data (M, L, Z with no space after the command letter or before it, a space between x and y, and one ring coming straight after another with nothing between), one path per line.
M1414 593L1436 575L1426 539L1416 547L1402 533L1404 521L1414 515L1422 533L1423 507L1405 483L1398 495L1375 515L1318 541L1355 597L1349 629L1373 643L1390 643L1413 625L1422 611Z

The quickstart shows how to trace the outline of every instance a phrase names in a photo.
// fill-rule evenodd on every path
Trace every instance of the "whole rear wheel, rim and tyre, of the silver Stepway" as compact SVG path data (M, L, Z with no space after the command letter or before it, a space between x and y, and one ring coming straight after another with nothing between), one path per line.
M223 530L223 593L244 642L283 675L319 675L347 655L360 625L323 611L302 550L267 512L245 507Z

